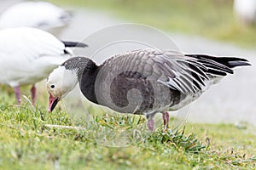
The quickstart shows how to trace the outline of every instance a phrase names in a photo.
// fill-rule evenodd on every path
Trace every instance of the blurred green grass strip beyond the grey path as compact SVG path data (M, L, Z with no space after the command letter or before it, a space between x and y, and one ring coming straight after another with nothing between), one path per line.
M256 47L256 27L241 26L234 16L232 0L49 0L49 2L95 8L125 21L154 26L164 31L208 37L241 47Z

